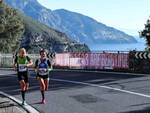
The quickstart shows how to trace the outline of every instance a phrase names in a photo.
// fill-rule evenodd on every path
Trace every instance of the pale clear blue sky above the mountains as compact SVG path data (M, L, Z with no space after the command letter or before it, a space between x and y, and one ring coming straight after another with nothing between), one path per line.
M138 35L150 16L150 0L37 0L48 9L66 9Z

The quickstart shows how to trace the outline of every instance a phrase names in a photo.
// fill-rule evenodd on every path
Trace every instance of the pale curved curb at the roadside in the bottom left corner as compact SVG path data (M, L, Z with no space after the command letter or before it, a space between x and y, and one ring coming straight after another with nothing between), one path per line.
M6 96L7 98L13 100L14 102L16 102L16 103L18 103L19 105L22 106L22 104L21 104L22 102L20 100L16 99L15 97L13 97L13 96L11 96L11 95L9 95L7 93L4 93L2 91L0 91L0 94L3 95L3 96ZM28 104L22 106L22 108L24 108L28 113L40 113L39 111L37 111L35 108L31 107Z

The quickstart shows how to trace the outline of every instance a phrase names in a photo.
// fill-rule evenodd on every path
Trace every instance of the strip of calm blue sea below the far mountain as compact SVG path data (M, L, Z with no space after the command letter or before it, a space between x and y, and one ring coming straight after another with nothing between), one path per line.
M146 45L144 42L138 42L135 44L99 44L89 46L89 48L92 51L143 51L145 50Z

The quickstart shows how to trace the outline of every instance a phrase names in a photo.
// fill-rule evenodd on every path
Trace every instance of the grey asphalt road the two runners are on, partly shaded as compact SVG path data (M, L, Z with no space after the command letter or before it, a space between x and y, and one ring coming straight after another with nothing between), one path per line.
M0 90L21 99L16 75L0 70ZM30 71L27 102L42 113L149 113L150 76L107 72L51 72L46 104Z

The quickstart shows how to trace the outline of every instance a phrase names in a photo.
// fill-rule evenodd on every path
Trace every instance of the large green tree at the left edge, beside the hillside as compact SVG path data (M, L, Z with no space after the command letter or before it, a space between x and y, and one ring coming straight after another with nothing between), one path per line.
M0 52L10 53L20 46L24 25L17 16L17 10L0 0Z

